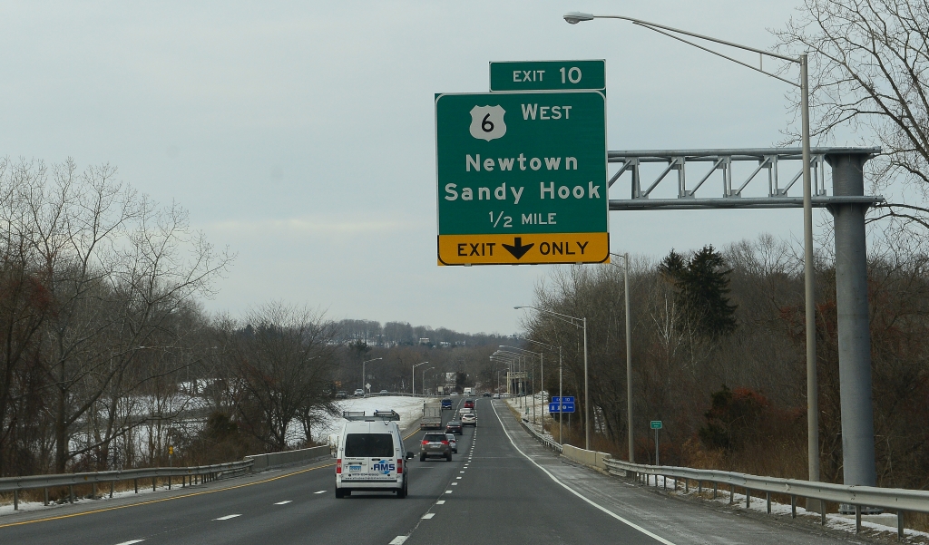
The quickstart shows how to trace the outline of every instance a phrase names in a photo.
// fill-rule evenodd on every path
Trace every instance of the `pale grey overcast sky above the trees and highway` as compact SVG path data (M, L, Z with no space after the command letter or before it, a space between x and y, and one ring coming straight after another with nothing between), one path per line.
M238 253L210 310L281 299L330 318L511 333L512 307L552 268L436 265L434 94L486 91L491 60L605 58L609 149L771 146L792 122L789 85L626 22L561 16L769 47L765 29L795 4L3 2L0 153L109 162L181 203ZM628 198L628 184L610 197ZM802 234L800 210L609 222L613 252L653 258Z

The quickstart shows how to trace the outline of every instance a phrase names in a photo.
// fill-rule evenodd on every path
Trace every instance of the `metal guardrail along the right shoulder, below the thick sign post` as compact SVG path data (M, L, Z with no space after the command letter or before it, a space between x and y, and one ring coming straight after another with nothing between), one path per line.
M641 479L646 475L655 475L655 486L658 486L658 476L664 477L667 487L667 478L674 478L674 488L677 481L683 480L686 491L689 491L691 481L696 481L702 490L703 483L713 483L713 497L715 498L719 484L729 486L729 502L733 501L736 487L745 489L746 507L752 503L752 492L765 492L767 512L771 513L771 494L784 494L791 497L791 516L796 517L797 498L807 498L821 501L834 501L854 506L855 526L861 530L861 513L868 508L881 508L887 511L896 511L896 534L903 539L903 514L905 512L929 513L929 491L910 490L907 488L880 488L856 487L834 485L831 483L818 483L797 479L782 479L779 477L764 477L751 474L738 474L716 470L702 470L687 467L645 465L609 459L605 461L609 474L616 476ZM826 524L826 512L820 509L822 524Z

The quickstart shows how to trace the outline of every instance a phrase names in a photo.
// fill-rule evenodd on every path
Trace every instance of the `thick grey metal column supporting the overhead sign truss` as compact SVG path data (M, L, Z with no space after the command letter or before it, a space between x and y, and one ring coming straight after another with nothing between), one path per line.
M867 155L827 155L836 196L864 194ZM874 412L871 395L867 205L830 207L835 220L835 292L839 336L844 485L874 487Z

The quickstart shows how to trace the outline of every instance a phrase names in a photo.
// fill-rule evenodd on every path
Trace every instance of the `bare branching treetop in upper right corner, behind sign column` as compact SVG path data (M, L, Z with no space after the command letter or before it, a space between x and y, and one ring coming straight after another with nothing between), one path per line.
M886 189L897 176L929 195L929 4L906 0L805 0L775 32L782 51L810 53L813 134L870 131L883 154L870 178ZM799 105L799 97L795 97ZM792 135L792 140L799 136ZM927 210L888 204L873 219L929 227Z

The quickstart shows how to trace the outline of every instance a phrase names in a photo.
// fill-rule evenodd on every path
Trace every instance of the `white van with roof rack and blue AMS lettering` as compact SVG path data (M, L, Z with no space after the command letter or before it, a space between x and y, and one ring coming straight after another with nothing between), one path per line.
M410 473L405 461L412 452L403 447L393 410L345 411L348 420L339 435L335 452L335 497L351 496L352 491L393 492L406 498Z

